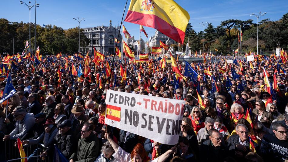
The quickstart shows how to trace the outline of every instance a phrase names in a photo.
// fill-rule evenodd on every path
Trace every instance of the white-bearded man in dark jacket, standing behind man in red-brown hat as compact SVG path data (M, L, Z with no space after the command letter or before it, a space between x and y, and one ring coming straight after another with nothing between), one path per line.
M45 106L41 110L40 113L45 113L46 114L46 119L53 118L55 115L54 110L56 107L57 103L55 102L55 97L52 95L49 95L45 99Z

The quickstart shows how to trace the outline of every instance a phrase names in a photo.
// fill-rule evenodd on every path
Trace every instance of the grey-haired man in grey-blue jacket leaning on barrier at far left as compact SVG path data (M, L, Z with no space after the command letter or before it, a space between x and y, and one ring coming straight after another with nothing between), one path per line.
M34 115L32 113L26 113L23 106L18 106L15 109L18 109L14 113L16 126L9 135L4 136L4 141L9 139L16 140L17 138L21 139L26 133L29 133L35 124Z

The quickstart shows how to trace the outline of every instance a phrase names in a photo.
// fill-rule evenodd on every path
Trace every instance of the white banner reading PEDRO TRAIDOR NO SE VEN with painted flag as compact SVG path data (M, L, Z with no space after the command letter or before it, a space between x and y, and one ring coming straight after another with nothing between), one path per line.
M178 143L184 100L107 90L105 123L162 144Z

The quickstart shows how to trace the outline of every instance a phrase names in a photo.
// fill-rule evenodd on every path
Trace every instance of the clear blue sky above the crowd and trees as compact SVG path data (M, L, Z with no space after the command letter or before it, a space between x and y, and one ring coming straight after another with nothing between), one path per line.
M22 0L25 3L28 1ZM283 14L288 12L287 0L175 0L190 14L189 22L197 32L203 30L201 22L211 22L214 27L221 21L227 19L247 20L256 17L250 17L252 13L267 12L260 18L279 20ZM0 9L0 18L8 19L10 22L29 22L29 10L25 5L21 5L18 0L2 0ZM31 1L35 4L35 1ZM121 22L125 0L38 0L40 6L36 9L36 23L52 24L63 29L78 26L78 22L73 18L85 18L86 21L80 23L80 27L94 27L98 25L118 25ZM130 1L126 7L125 15ZM35 9L31 9L31 21L35 20ZM139 25L124 22L130 35L139 38ZM151 36L155 29L144 27L148 36ZM142 38L144 34L142 33ZM144 36L145 37L145 36ZM146 37L144 38L144 40Z

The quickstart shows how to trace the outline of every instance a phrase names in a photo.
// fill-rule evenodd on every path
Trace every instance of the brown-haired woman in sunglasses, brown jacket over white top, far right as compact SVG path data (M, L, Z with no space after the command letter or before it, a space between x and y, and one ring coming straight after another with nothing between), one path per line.
M267 128L270 128L273 121L273 115L266 111L265 103L261 100L255 102L255 109L252 111L252 118L260 121Z

